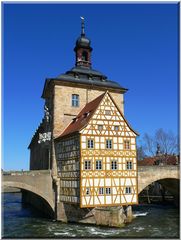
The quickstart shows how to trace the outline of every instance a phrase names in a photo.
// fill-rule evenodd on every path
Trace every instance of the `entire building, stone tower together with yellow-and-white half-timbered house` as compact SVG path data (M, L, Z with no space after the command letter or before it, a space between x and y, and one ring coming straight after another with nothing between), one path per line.
M92 68L82 19L75 67L45 81L45 115L30 149L30 170L50 169L58 202L80 208L138 202L136 136L118 83Z

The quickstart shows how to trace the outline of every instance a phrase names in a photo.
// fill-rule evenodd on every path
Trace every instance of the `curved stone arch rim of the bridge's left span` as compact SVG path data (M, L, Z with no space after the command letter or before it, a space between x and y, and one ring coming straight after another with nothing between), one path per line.
M46 194L44 194L42 191L40 191L38 188L31 186L29 184L26 183L22 183L22 182L12 182L12 181L2 181L2 187L13 187L13 188L18 188L21 190L25 190L27 192L33 193L35 195L37 195L38 197L40 197L41 199L43 199L43 201L45 201L45 203L47 204L47 206L49 206L51 214L53 214L55 212L55 207L54 207L54 202L52 199L49 199Z

